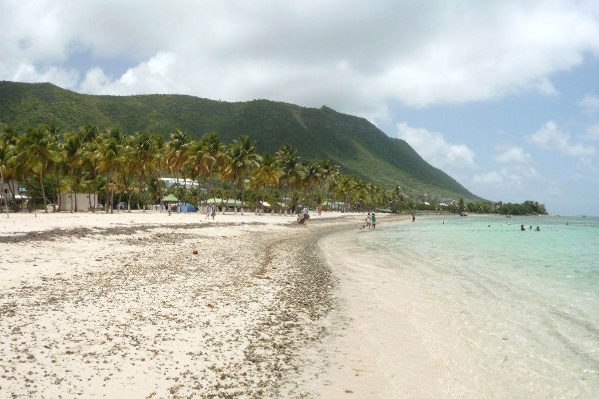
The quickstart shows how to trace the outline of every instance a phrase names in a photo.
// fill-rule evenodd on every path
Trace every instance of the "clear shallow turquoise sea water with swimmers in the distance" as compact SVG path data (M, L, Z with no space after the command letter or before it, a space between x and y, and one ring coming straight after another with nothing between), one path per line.
M383 219L345 245L412 293L407 314L470 392L599 397L598 217Z

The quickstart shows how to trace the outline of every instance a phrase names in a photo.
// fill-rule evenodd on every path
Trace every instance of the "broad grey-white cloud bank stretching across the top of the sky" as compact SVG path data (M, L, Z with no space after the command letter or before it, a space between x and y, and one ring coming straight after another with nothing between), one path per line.
M78 87L58 72L26 79L87 93L326 103L371 120L388 117L392 102L555 95L552 74L599 53L592 1L23 0L0 4L0 26L1 79L23 79L21 65L68 75L84 57L77 65L92 68L78 69ZM131 69L102 77L93 62L107 59Z

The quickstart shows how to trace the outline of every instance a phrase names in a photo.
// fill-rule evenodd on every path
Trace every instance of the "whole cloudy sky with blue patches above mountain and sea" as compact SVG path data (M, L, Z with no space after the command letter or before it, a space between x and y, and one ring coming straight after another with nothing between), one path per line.
M0 0L0 26L0 80L326 105L486 199L599 214L596 0Z

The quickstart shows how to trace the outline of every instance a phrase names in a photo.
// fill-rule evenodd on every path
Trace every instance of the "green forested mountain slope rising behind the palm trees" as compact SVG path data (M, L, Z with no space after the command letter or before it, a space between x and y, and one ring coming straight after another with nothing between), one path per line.
M376 126L331 108L274 102L220 102L184 95L93 96L50 83L0 81L0 124L17 129L53 124L61 132L95 124L169 138L175 129L194 138L218 132L224 142L250 135L260 152L275 153L288 143L302 158L331 157L344 173L392 188L413 199L482 200L455 179L426 163L407 142ZM427 194L427 196L425 196Z

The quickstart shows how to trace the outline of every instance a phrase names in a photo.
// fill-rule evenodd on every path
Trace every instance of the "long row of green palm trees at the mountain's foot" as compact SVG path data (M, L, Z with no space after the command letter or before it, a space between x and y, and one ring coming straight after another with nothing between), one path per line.
M263 202L282 203L291 211L299 204L321 203L329 208L338 204L338 210L345 212L379 208L397 212L420 206L407 199L400 187L388 190L341 173L330 158L301 159L289 144L275 154L258 154L257 144L247 135L225 144L216 132L195 140L179 129L164 141L147 132L126 135L117 128L101 132L91 124L66 133L53 125L23 133L5 127L0 133L0 171L4 181L25 185L30 211L43 206L47 212L47 205L58 202L61 193L97 194L105 212L113 212L121 202L128 204L129 212L134 203L146 209L161 203L167 194L201 206L213 197L223 202L240 200L242 212L246 204L262 212ZM180 184L167 189L161 180L165 176L174 176ZM198 181L201 188L188 188L184 179ZM471 204L462 199L446 210L473 211ZM513 205L483 203L479 208L486 213L545 213L544 205L537 202L519 210L509 206Z

